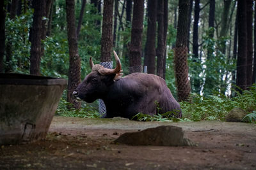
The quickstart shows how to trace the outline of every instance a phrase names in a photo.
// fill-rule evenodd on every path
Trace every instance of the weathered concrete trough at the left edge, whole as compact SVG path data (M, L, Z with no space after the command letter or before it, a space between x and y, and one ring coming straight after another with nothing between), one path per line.
M45 138L67 80L0 74L0 145Z

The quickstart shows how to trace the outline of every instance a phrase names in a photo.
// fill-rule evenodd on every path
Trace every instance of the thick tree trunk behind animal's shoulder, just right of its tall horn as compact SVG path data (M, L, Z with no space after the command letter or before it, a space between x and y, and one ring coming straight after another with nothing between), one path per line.
M129 52L130 59L130 73L141 72L141 44L143 33L143 14L144 14L144 1L134 1L133 4L133 17L132 17L132 31L131 31L131 45Z

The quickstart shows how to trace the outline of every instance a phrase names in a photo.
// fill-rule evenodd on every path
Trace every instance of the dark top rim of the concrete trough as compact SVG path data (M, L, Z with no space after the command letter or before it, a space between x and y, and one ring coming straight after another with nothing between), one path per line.
M67 85L67 80L31 74L0 73L0 85Z

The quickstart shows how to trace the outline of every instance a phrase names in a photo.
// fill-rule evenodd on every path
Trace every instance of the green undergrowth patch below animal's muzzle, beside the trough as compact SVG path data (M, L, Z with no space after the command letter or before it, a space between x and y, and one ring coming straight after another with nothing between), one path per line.
M70 108L70 109L68 109ZM60 103L56 110L56 115L63 117L80 117L80 118L99 118L99 112L95 107L84 104L79 110L72 107L71 103L68 103L63 97L60 99Z

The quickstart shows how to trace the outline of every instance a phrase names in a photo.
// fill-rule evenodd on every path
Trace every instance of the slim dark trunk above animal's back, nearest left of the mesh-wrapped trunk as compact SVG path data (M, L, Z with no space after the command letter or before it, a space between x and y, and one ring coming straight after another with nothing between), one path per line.
M157 3L157 75L164 78L164 0Z

